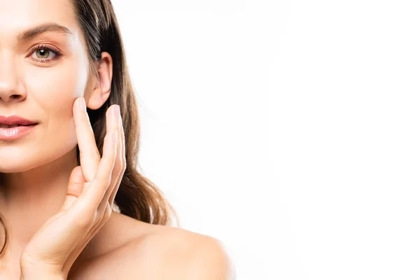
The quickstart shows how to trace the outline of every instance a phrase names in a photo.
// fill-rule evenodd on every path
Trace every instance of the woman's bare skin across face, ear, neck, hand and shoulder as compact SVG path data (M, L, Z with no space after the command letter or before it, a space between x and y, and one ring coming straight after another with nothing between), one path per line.
M19 36L50 22L71 34ZM120 130L111 113L116 105L106 112L99 158L85 111L76 104L84 99L97 110L109 99L111 55L102 52L96 67L98 77L88 71L87 46L70 0L0 0L0 115L38 123L21 139L0 141L0 214L10 237L0 280L66 273L77 280L230 279L230 260L217 239L116 211L109 215L125 169L125 159L118 158L125 155L123 132L116 146L110 142L110 133Z

